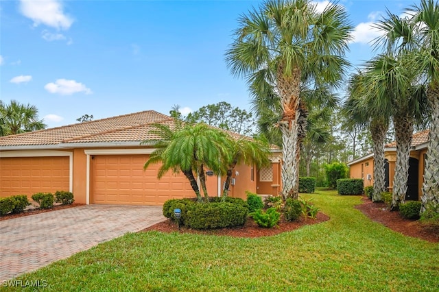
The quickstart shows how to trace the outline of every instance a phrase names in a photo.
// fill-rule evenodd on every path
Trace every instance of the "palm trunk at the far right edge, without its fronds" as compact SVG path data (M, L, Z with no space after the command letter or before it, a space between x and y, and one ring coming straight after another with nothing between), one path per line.
M430 136L425 160L423 196L421 198L425 211L427 204L439 204L439 84L429 86L427 97L431 108Z

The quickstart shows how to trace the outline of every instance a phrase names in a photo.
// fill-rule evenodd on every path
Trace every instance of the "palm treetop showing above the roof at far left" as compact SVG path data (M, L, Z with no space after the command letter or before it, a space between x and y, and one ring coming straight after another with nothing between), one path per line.
M38 119L38 109L30 104L10 101L0 103L0 134L8 136L24 132L42 130L46 127L43 119Z

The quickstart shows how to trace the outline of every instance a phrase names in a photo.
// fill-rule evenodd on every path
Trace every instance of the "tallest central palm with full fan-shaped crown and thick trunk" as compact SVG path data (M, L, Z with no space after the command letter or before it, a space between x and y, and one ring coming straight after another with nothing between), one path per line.
M271 87L281 106L283 198L298 197L302 84L338 85L348 62L351 25L340 5L322 13L309 0L269 0L239 19L235 42L226 52L233 75L245 77L264 97ZM269 97L271 97L270 95ZM303 121L303 119L301 119Z

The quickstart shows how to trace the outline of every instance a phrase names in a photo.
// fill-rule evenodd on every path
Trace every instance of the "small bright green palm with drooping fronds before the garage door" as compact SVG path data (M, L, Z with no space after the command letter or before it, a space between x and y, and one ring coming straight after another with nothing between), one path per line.
M230 141L228 134L204 123L195 125L175 123L174 129L163 124L154 124L154 126L156 129L152 130L151 134L158 138L141 143L156 148L143 168L147 169L150 165L162 162L158 170L158 178L169 170L174 173L182 171L189 180L198 201L201 202L202 195L195 179L196 174L200 178L204 197L209 197L204 167L209 167L218 175L224 174L222 161L231 160L226 151Z

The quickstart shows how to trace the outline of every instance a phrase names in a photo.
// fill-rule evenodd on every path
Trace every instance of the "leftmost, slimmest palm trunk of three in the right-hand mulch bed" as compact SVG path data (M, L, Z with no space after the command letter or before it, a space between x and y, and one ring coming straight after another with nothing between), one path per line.
M373 142L373 194L372 202L382 201L381 193L385 191L384 139L388 124L373 120L370 123L370 134Z

